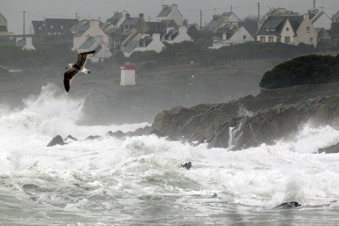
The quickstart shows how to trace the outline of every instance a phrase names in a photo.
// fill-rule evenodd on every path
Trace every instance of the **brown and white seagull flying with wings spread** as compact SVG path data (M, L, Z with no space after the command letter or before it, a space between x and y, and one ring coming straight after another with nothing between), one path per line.
M94 54L95 51L90 51L86 53L78 54L78 60L75 64L68 64L66 69L69 69L65 72L65 76L63 78L63 85L65 85L65 89L68 92L69 87L71 86L72 79L76 76L79 72L84 72L85 74L90 74L90 70L85 68L85 63L88 55Z

